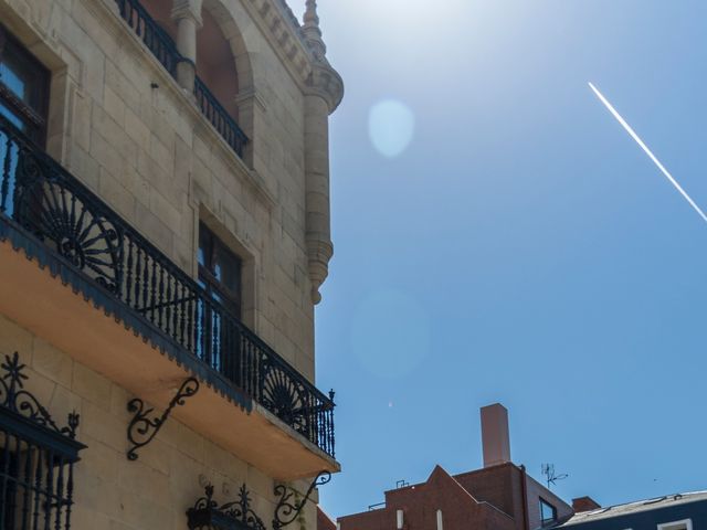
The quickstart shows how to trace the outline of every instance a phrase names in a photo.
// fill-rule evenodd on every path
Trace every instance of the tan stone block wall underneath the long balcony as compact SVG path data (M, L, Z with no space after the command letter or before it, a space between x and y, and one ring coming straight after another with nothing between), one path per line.
M170 417L157 437L128 462L126 404L133 398L101 374L4 317L0 317L0 361L20 353L28 365L25 389L65 424L76 411L76 438L87 446L74 467L72 528L77 530L175 530L187 528L186 511L214 486L220 502L236 499L243 483L254 511L271 528L276 506L273 479ZM161 409L157 407L157 413ZM294 485L303 491L307 483ZM314 529L308 504L304 528ZM297 523L293 530L299 530Z

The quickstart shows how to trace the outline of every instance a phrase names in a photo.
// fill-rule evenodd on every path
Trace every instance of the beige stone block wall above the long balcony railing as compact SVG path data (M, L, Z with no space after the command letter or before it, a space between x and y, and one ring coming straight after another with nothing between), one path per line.
M205 0L204 9L250 68L239 71L238 96L247 163L115 0L0 0L0 20L52 71L50 153L192 275L204 221L244 259L245 324L313 380L305 96L246 1Z

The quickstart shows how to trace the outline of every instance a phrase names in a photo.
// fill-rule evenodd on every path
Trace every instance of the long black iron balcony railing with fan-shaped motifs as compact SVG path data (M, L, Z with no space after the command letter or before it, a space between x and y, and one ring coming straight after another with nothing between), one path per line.
M319 392L101 199L0 116L0 215L334 456Z

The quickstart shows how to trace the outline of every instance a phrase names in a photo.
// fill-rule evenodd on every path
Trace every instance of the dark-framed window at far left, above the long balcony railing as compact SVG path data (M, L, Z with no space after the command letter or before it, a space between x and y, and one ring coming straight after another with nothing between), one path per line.
M46 139L49 71L0 25L0 115L40 146Z

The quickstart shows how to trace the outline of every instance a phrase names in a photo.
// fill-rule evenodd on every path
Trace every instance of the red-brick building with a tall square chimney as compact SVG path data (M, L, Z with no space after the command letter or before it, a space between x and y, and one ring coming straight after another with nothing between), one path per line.
M383 508L338 518L339 530L535 530L572 516L572 507L510 460L508 413L482 409L484 467L386 491Z

